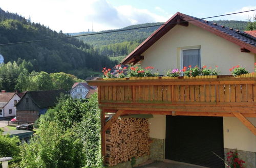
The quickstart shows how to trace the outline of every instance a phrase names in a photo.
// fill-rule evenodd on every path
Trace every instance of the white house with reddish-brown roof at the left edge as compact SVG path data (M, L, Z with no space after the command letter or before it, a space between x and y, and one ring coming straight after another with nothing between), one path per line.
M16 115L15 104L19 99L20 97L16 93L7 93L5 91L0 93L0 120Z

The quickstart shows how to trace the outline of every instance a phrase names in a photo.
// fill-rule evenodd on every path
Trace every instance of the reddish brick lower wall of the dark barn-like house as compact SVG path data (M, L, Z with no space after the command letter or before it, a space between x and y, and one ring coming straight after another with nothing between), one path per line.
M34 123L39 118L39 111L17 110L16 119L19 122Z

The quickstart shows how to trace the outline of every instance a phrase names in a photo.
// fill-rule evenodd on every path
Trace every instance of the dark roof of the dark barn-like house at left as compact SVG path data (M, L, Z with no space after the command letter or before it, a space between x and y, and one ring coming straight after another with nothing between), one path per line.
M57 90L44 90L44 91L27 91L28 94L33 102L39 108L46 108L55 106L57 103L57 97L63 93L66 94L64 89L57 89ZM20 102L20 101L19 101Z

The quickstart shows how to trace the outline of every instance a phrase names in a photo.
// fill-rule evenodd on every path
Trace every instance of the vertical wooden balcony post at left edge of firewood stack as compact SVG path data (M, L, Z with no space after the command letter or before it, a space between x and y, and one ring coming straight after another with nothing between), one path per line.
M105 165L105 156L106 156L106 132L104 131L105 125L105 111L100 110L100 135L101 135L101 158L103 159L103 165Z

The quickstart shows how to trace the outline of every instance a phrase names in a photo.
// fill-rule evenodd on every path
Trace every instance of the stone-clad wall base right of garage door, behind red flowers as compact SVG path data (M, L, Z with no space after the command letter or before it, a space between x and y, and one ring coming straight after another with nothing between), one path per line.
M224 148L225 160L227 160L227 155L226 154L229 151L235 152L236 150L235 149ZM237 150L237 151L238 151L238 157L245 161L244 165L245 165L246 168L256 167L256 153L255 152L241 151L241 150Z

